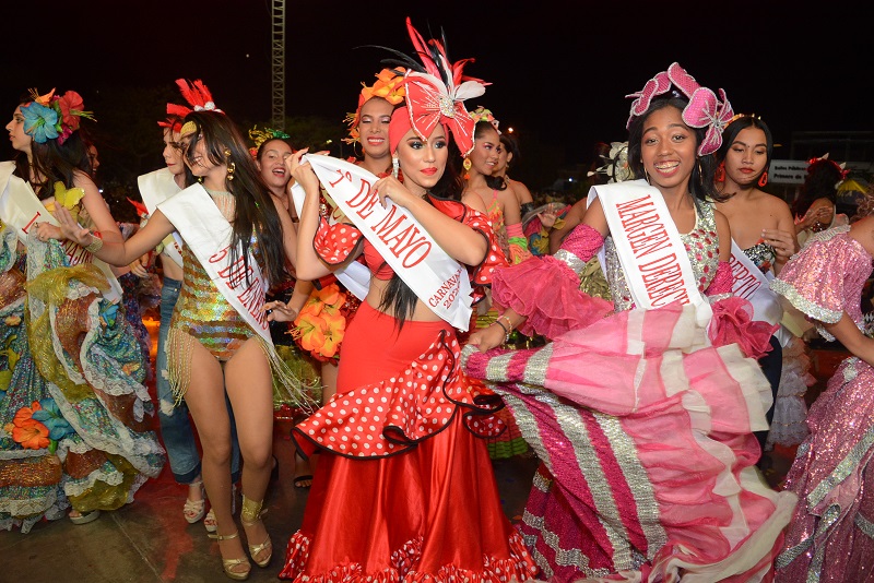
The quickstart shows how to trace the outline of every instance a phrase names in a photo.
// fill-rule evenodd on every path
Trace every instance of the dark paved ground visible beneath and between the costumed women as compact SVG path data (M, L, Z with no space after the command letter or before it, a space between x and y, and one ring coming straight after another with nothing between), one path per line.
M812 372L827 379L847 355L841 350L813 353ZM812 401L823 383L808 393ZM157 421L155 421L157 423ZM252 567L249 581L279 581L285 544L303 516L306 489L292 484L293 449L291 425L279 420L274 450L280 460L279 479L268 492L270 513L267 526L275 546L265 569ZM782 481L794 449L778 448L770 454L768 481ZM524 507L536 460L513 459L494 463L507 516L519 520ZM168 467L156 480L138 492L137 500L99 520L76 526L68 520L44 522L27 535L0 532L0 582L87 582L87 583L200 583L228 581L221 569L218 545L206 537L202 523L189 525L182 517L186 487L177 485Z

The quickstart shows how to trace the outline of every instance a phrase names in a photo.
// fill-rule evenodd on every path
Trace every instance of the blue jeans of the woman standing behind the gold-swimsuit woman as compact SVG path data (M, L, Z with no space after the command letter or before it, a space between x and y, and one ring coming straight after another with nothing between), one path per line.
M173 391L166 378L167 353L167 332L170 329L170 318L179 298L179 290L182 283L169 277L164 277L161 287L161 325L157 334L157 359L155 371L157 377L157 401L158 420L161 421L161 437L164 448L167 450L167 459L170 463L173 477L179 484L191 484L200 475L200 452L194 440L194 429L188 415L188 407L185 401L174 406ZM227 401L227 413L231 416L231 474L236 483L239 480L239 442L237 441L237 426L234 423L234 413L231 411L231 402Z

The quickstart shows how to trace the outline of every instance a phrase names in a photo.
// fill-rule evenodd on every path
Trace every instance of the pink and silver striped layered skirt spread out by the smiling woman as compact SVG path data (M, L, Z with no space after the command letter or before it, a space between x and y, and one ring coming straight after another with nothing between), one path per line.
M464 349L542 461L520 531L544 579L772 579L796 498L754 468L770 388L705 332L672 305L540 349Z

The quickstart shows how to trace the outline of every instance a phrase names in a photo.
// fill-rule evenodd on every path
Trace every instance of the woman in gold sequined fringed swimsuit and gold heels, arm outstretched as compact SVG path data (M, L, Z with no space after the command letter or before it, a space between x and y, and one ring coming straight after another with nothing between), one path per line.
M199 82L191 92L197 93ZM188 97L187 97L188 98ZM200 106L200 110L197 106ZM202 178L158 204L149 223L123 243L106 242L95 254L117 265L154 249L178 230L182 289L167 336L168 374L185 398L203 447L202 475L216 519L225 574L245 580L251 566L244 554L231 490L231 401L243 456L243 509L249 554L259 567L272 556L261 516L270 480L273 442L272 370L282 367L262 312L268 282L294 258L294 227L281 202L270 195L239 130L211 98L201 98L185 118L180 143L185 162ZM94 237L69 214L59 213L64 234L80 242ZM299 384L286 377L290 390Z

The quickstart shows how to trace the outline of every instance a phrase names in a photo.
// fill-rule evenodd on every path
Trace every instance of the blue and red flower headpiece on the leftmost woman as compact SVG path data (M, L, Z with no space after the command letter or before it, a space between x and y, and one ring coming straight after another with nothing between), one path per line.
M31 90L31 95L34 100L23 105L21 112L24 116L24 133L37 144L44 144L47 140L58 140L58 144L62 144L79 129L80 118L94 119L91 111L84 110L82 96L74 91L58 96L55 90L46 95Z

